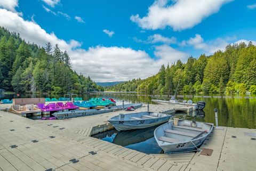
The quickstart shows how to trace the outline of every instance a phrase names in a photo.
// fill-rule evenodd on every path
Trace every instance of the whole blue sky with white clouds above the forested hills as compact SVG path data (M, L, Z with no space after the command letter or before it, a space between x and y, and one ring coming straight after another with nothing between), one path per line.
M256 0L0 0L0 26L58 44L95 82L127 81L228 44L256 45Z

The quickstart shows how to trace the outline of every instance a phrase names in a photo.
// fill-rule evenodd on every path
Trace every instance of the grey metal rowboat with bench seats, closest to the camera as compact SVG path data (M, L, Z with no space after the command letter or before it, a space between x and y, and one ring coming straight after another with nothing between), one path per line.
M174 119L155 129L154 137L164 153L198 150L212 132L213 124Z

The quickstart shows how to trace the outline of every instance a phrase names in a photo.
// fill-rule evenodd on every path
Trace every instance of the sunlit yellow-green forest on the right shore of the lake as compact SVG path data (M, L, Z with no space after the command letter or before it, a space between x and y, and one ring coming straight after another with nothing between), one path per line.
M252 42L229 44L225 51L202 54L198 59L190 56L186 63L178 60L165 66L154 76L105 90L170 95L178 87L179 92L187 94L256 94L256 46Z

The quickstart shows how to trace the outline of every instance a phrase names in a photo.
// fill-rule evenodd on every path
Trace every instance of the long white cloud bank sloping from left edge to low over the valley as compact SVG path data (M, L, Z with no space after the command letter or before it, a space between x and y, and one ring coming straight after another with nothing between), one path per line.
M47 42L59 44L62 51L67 50L73 69L85 76L90 75L97 82L129 80L132 78L146 78L156 74L162 64L174 62L178 59L186 61L186 53L162 45L155 46L155 56L150 58L145 51L133 50L129 47L89 47L81 48L76 40L66 42L52 32L48 34L43 28L32 21L24 20L17 13L0 9L0 26L10 31L19 32L20 36L40 46Z

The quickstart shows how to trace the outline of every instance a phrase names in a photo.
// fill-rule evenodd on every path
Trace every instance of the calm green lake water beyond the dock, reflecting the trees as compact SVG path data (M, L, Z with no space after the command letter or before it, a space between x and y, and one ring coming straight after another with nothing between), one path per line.
M59 98L63 95L53 95L50 97ZM84 100L88 100L91 97L111 97L116 99L119 103L122 100L125 100L126 103L137 103L137 102L151 102L150 96L130 96L125 94L118 95L89 95L83 94L78 95L82 96ZM12 99L13 97L17 98L16 95L3 95L0 94L0 99ZM43 95L20 95L20 97L46 97ZM47 95L49 97L49 95ZM184 98L188 100L189 98ZM184 119L196 119L198 121L205 121L208 123L215 123L214 117L214 108L218 108L218 118L219 118L219 126L230 126L230 127L242 127L242 128L256 128L256 99L244 99L244 98L196 98L192 99L193 101L205 101L206 107L203 112L200 113L179 113L176 117L184 118Z

